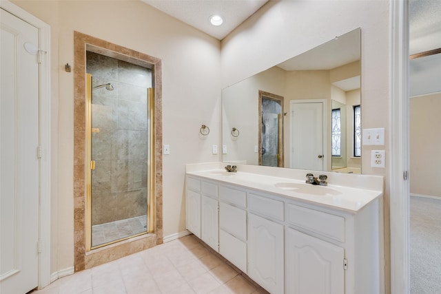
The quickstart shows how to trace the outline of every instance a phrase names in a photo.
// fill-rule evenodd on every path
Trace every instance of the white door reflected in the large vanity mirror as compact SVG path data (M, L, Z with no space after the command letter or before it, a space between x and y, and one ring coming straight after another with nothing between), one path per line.
M323 171L324 103L313 101L291 101L291 168Z

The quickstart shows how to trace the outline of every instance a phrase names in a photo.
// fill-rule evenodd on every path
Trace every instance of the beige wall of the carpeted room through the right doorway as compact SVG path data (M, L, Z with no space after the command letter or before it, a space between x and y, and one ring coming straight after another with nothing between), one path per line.
M441 92L411 98L409 107L411 193L441 198Z

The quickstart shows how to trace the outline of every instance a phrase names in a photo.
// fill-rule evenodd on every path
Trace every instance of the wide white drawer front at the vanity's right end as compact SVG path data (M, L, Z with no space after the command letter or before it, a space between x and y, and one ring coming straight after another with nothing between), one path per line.
M341 216L287 204L287 222L345 242L345 218Z

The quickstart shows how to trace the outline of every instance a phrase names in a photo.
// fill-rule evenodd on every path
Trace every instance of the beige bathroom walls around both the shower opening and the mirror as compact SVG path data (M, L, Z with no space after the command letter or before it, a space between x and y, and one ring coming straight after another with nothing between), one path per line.
M185 163L220 160L220 88L232 85L355 28L362 32L362 126L384 127L389 146L389 1L270 1L221 45L140 1L13 1L52 28L52 271L73 264L73 31L163 61L164 235L185 229ZM136 21L134 21L136 20ZM220 57L220 58L219 58ZM202 124L210 135L198 136ZM378 147L376 147L378 148ZM364 146L362 154L372 147ZM363 174L385 176L385 241L389 277L389 165ZM55 224L56 222L56 224ZM388 288L387 288L387 292Z

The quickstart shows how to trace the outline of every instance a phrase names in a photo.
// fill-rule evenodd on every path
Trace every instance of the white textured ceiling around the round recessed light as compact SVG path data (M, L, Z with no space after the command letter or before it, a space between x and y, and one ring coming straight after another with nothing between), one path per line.
M268 0L141 0L154 8L222 40ZM223 17L224 23L209 23L212 14Z

